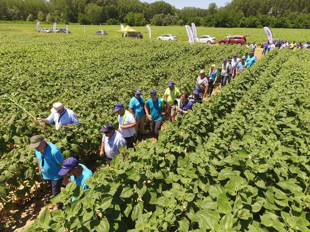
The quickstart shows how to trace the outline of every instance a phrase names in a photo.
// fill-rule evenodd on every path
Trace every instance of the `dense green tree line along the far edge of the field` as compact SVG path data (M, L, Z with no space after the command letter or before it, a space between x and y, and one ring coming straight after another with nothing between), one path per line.
M195 23L208 27L310 28L306 0L232 0L223 7L176 9L164 1L139 0L0 0L1 20L80 24L146 24L168 26Z

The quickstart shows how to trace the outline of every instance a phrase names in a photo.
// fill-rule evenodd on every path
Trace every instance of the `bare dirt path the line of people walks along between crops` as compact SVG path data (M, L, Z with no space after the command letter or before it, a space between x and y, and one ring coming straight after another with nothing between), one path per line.
M255 52L255 56L257 60L262 58L262 48L257 48ZM233 81L233 80L232 80ZM220 84L216 84L216 87L213 89L212 96L214 96L217 92L221 91ZM212 97L204 97L204 101L209 101ZM167 122L164 122L162 125L162 130L167 127ZM150 139L152 142L156 142L156 139L153 138L151 135L147 135L144 138L138 138L139 140ZM2 223L4 224L4 230L0 231L3 232L22 232L25 228L32 225L34 219L38 218L39 215L48 208L50 211L55 210L55 204L51 203L49 199L51 195L47 195L43 199L33 199L29 203L25 204L18 210L12 211L10 215L4 219L2 218Z

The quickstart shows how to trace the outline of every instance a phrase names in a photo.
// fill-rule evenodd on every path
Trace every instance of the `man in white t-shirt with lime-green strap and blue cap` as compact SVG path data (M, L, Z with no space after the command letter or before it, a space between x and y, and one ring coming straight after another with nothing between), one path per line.
M124 136L127 147L133 148L135 126L137 125L134 116L124 109L122 103L117 103L113 111L118 114L118 131Z

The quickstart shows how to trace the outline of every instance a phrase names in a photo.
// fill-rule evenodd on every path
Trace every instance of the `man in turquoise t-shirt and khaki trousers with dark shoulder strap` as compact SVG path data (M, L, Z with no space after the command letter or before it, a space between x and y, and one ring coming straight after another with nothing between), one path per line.
M135 126L135 137L138 135L138 127L140 127L141 135L145 135L144 101L140 89L137 89L135 91L135 97L131 98L129 102L129 111L134 116L137 123Z

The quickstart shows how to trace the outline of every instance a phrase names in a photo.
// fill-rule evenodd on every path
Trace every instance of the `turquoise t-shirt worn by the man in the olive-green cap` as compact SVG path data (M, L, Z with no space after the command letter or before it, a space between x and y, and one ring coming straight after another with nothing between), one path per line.
M38 158L38 161L40 163L40 169L41 173L43 175L43 179L45 180L59 180L62 178L62 176L58 175L58 172L60 171L60 163L64 161L64 157L62 156L62 153L60 149L52 144L47 142L46 152L44 156L44 165L42 167L42 157L41 153L38 152L36 149L34 149L34 152Z

